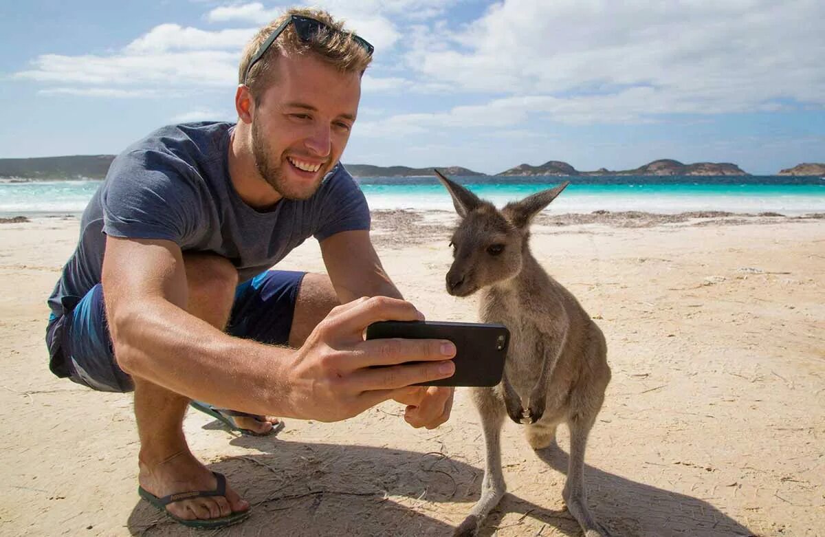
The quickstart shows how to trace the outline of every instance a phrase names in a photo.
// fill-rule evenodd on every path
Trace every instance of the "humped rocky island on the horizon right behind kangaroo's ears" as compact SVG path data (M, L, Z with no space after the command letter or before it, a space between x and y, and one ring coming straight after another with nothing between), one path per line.
M509 170L497 173L497 176L512 177L512 176L601 176L601 175L647 175L647 176L727 176L750 175L742 171L740 167L732 163L695 163L682 164L677 160L663 158L661 160L654 160L652 163L637 167L633 170L607 170L606 168L599 168L595 172L579 172L576 168L570 166L568 163L563 163L558 160L551 160L540 166L530 166L530 164L521 164L512 167Z

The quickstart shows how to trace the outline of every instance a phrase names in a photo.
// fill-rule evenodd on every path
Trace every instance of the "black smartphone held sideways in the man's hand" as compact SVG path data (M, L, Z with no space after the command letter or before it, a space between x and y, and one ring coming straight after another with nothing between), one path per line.
M510 332L503 324L446 321L381 321L366 328L367 339L446 339L455 344L455 374L419 386L495 386L502 381Z

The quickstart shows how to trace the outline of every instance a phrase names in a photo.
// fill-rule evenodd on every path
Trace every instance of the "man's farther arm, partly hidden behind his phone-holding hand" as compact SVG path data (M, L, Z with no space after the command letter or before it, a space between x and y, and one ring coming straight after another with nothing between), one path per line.
M363 296L402 298L381 266L369 231L336 233L321 242L321 254L342 303ZM433 429L450 419L454 391L452 388L417 386L394 399L408 405L404 419L410 425Z

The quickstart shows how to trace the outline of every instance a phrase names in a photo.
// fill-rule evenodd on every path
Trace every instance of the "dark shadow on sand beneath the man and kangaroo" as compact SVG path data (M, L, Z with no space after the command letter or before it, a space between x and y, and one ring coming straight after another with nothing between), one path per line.
M170 521L146 502L137 502L129 517L130 532L289 537L451 535L469 512L469 503L479 499L483 469L441 454L288 442L271 437L244 436L232 443L265 452L210 464L211 469L226 474L233 488L252 504L252 516L247 521L223 530L191 530ZM567 454L559 448L538 451L536 455L560 473L567 471ZM585 469L585 480L593 514L615 535L753 535L695 497L636 483L590 466ZM392 499L398 497L403 497L403 503ZM552 501L559 505L559 498ZM455 502L465 505L449 505ZM427 515L427 511L434 516ZM530 535L536 533L530 528L542 525L547 525L542 535L581 535L568 511L547 509L509 493L488 517L480 535L493 535L509 512L526 513L518 524L524 525ZM520 535L518 528L510 524L509 535Z

